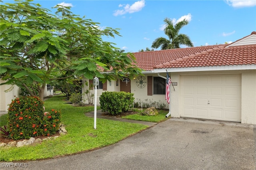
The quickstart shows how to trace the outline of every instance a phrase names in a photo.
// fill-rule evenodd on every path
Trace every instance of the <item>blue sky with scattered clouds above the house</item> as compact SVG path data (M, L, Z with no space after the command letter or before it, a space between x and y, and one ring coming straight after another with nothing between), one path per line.
M255 0L34 0L34 3L52 11L57 4L72 6L74 14L99 22L101 28L120 28L122 37L104 40L116 43L115 47L126 52L151 49L156 38L168 38L163 32L164 18L170 18L174 24L187 19L189 24L180 33L188 35L194 46L234 42L256 31Z

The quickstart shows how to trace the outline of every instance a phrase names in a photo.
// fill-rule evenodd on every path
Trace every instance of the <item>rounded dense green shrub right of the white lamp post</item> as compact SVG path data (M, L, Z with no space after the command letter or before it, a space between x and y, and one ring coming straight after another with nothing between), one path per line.
M100 96L100 108L112 115L128 111L133 106L133 93L106 91Z

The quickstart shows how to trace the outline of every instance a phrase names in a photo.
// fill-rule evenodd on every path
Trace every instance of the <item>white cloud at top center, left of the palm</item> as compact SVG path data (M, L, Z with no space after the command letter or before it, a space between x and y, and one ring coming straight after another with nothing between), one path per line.
M140 10L142 10L142 8L144 8L145 6L145 0L140 0L137 2L134 2L134 4L129 5L129 4L119 4L118 7L119 8L123 8L121 10L116 10L114 12L114 16L118 16L118 15L124 15L126 13L134 13L134 12L139 12Z

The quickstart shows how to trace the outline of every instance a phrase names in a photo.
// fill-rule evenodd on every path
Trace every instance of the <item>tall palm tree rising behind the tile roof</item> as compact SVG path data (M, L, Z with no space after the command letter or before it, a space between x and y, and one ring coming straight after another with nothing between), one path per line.
M172 20L165 18L164 22L166 28L164 28L164 34L168 36L168 39L164 37L159 37L154 40L152 43L152 48L158 48L161 46L161 49L174 49L180 48L180 45L186 45L188 47L193 47L193 43L186 34L180 34L180 29L183 26L186 26L189 22L188 20L182 20L176 25L173 24Z

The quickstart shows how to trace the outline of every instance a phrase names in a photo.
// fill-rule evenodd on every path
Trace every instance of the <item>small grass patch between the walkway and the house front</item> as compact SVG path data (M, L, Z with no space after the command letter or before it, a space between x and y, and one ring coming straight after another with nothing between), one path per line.
M143 116L143 115L140 115L141 110L138 109L137 111L138 111L137 114L123 116L122 118L124 118L124 119L132 119L132 120L136 120L136 121L155 122L155 123L159 123L159 122L165 121L166 119L170 118L170 117L165 118L165 115L168 114L168 111L160 110L160 111L158 111L159 114L158 115L154 115L154 116Z

